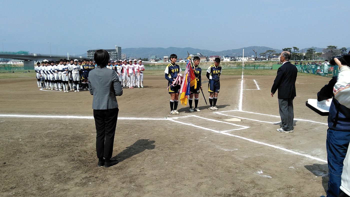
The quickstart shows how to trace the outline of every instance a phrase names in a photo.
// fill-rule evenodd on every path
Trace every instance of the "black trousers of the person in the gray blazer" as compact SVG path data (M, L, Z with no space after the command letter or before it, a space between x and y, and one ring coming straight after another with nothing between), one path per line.
M119 109L93 110L97 158L111 159Z

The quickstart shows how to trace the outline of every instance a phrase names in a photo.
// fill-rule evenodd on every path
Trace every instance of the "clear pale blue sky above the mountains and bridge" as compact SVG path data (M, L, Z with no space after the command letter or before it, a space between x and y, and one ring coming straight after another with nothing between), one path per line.
M115 45L122 52L139 47L350 47L349 0L4 0L1 7L5 51L50 54L48 42L51 54L59 55Z

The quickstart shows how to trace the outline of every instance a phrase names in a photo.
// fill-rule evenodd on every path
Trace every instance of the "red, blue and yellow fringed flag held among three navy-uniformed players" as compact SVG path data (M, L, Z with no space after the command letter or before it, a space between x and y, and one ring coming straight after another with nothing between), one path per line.
M185 73L182 78L181 88L180 88L180 101L181 105L186 106L187 105L187 99L190 95L190 87L195 86L195 89L197 88L197 80L195 73L193 72L192 66L191 66L191 57L189 56L187 58L187 66Z

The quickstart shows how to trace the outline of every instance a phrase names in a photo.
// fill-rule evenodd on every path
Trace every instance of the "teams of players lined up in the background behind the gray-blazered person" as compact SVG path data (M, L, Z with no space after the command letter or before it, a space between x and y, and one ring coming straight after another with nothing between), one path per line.
M125 72L127 73L125 76L128 76L128 78L125 77L125 81L129 79L128 82L132 83L128 84L128 87L144 87L143 72L145 70L145 66L142 65L142 61L139 61L139 64L136 64L136 59L134 59L135 65L127 66L124 66L124 64L120 65L122 63L121 60L116 62L117 65L114 65L115 62L110 61L106 67L115 70L121 82ZM126 59L124 62L126 65ZM132 61L130 62L132 63ZM56 62L47 61L41 62L41 64L38 62L34 70L36 72L38 87L63 92L69 92L69 87L70 91L74 90L74 92L79 92L79 90L89 90L87 79L89 78L89 72L95 68L96 65L92 62L92 59L89 61L87 59L83 59L83 61L78 61L77 59L70 59L70 61L67 59L60 59Z

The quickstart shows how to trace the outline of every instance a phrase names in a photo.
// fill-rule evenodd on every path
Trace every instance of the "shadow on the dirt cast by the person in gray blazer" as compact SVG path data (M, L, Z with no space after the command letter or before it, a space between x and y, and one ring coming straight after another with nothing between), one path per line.
M144 152L144 150L152 150L155 148L155 145L153 145L155 141L149 140L149 139L140 139L136 141L133 145L126 147L125 150L120 152L118 155L114 156L113 159L118 159L119 162L122 162L134 155L137 155L139 153Z

